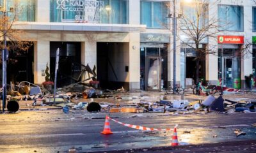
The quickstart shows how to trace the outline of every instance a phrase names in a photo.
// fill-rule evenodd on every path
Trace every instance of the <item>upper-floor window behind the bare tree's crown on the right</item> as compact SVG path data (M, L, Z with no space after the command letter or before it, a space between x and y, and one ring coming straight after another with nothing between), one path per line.
M205 29L208 25L208 4L182 4L181 29Z

